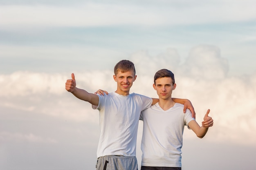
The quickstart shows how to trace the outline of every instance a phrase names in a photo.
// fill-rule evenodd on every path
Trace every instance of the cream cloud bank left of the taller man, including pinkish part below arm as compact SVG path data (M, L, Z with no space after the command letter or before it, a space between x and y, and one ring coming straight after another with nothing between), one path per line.
M94 93L103 86L106 90L112 90L114 86L108 83L109 79L112 80L112 75L110 71L75 74L78 79L77 86L90 93ZM101 78L95 79L95 77ZM67 79L71 79L71 75L69 77L61 73L47 74L27 71L0 75L0 83L4 84L5 89L0 94L2 113L8 113L9 110L14 112L22 110L61 119L97 123L97 114L95 114L97 111L92 110L89 103L75 99L65 90Z

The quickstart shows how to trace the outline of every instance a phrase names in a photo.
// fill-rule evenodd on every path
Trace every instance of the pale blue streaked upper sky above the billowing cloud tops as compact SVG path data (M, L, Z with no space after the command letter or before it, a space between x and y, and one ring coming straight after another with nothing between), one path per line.
M61 68L55 71L55 66L72 62L70 55L74 62L85 58L106 62L106 58L128 57L139 50L157 55L169 47L184 59L193 46L213 44L229 59L229 74L252 72L254 2L231 2L1 1L2 71L16 71L24 59L29 61L26 69L33 71L36 65L38 71L45 71L41 67L47 66L56 72ZM22 50L26 48L29 53ZM65 56L67 52L71 54ZM243 70L238 71L241 66Z

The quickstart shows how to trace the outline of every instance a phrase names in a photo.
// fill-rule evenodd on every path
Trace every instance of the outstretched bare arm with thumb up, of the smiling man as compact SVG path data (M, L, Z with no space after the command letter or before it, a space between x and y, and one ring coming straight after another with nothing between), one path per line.
M77 88L74 73L72 73L71 77L72 77L72 79L67 79L66 90L68 92L72 93L77 98L97 106L99 104L99 96L97 96L93 93L88 93L87 91L85 91L83 89Z

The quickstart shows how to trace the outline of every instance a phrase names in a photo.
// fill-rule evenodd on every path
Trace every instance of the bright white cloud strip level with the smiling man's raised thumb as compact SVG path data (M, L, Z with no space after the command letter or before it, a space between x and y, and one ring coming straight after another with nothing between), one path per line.
M106 82L113 80L112 71L88 71L86 73L77 73L77 86L88 89L89 92L95 92L99 87L112 88L112 85ZM0 97L11 96L29 96L29 95L62 95L67 93L65 82L71 79L71 73L35 73L29 71L17 71L11 74L0 75L0 83L4 84L4 91Z

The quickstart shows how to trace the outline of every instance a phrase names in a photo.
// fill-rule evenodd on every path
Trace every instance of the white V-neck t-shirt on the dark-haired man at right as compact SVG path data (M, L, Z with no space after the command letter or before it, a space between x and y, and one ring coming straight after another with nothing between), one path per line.
M141 112L142 166L181 167L184 126L195 120L191 111L187 109L183 113L183 108L183 104L175 103L163 110L157 103Z

